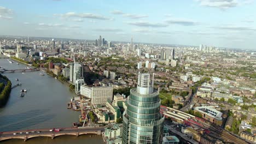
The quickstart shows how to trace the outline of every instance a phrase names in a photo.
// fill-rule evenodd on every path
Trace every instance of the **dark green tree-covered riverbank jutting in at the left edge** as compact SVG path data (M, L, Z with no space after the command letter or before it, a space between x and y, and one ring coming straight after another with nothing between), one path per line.
M10 97L11 81L6 76L0 74L0 82L0 107L3 107L7 104Z

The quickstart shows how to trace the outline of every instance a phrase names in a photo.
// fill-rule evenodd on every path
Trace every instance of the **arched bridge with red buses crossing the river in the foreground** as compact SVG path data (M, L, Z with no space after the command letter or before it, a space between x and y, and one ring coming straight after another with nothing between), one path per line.
M39 136L48 136L51 137L51 139L54 139L54 137L61 135L101 135L102 131L104 131L104 127L61 128L60 131L50 131L50 129L7 131L0 134L0 141L9 139L24 139L24 141L26 141L28 139L31 139L32 137Z

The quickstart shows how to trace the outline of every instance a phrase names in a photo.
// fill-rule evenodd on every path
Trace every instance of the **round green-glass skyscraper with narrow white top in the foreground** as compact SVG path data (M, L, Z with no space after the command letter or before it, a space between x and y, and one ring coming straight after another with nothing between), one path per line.
M137 88L131 89L123 116L123 144L162 142L164 117L159 92L153 86L150 74L138 74Z

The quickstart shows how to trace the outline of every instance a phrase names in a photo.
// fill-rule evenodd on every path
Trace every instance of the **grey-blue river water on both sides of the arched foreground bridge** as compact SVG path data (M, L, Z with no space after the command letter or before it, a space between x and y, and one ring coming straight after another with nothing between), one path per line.
M26 65L9 63L7 59L0 59L0 66L5 69L25 69ZM78 111L67 109L67 102L76 97L68 86L49 75L40 76L40 71L4 73L15 85L7 105L0 108L0 131L65 128L72 127L73 122L78 122ZM15 79L19 79L16 81ZM25 97L20 97L21 89L27 89ZM101 136L82 135L58 136L54 140L50 137L37 137L23 140L7 140L0 143L103 143Z

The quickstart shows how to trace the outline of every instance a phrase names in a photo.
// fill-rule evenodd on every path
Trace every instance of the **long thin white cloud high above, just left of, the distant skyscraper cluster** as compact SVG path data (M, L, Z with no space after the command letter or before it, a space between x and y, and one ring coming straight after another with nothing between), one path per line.
M61 16L61 17L80 17L80 18L87 18L87 19L97 19L97 20L110 20L108 17L104 17L102 15L98 14L91 14L91 13L74 13L74 12L68 12L65 14L54 14L54 16Z

